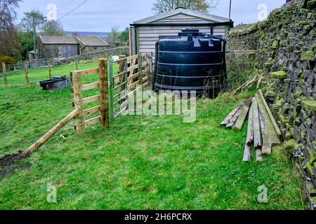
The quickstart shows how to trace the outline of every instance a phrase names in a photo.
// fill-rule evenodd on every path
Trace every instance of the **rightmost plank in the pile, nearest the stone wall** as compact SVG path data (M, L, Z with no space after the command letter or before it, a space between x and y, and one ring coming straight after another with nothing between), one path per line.
M270 116L268 115L268 111L266 111L263 101L259 94L256 94L256 102L258 103L258 109L263 116L263 120L265 123L265 129L269 133L270 141L272 146L278 145L281 142L279 141L279 137L277 136L277 132L275 132L275 127L272 124Z

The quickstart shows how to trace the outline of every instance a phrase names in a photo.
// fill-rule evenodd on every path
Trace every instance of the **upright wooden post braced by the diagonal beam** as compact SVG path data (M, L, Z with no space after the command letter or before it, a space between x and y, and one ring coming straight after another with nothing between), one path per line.
M84 134L84 95L82 90L81 71L74 71L72 75L72 81L74 83L74 109L78 111L75 128L78 134Z

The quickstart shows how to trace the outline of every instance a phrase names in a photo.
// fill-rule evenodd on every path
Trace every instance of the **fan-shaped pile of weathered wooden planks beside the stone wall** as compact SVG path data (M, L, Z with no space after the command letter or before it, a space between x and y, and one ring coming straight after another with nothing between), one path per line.
M280 144L282 132L279 130L261 90L253 99L247 99L246 102L238 104L221 125L241 130L247 115L249 120L244 162L251 160L253 149L256 150L256 160L262 161L265 155L272 153L272 146Z

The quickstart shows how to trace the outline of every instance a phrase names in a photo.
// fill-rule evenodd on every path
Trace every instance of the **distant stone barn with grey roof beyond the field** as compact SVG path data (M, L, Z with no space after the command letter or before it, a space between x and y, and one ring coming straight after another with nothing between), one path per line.
M97 36L40 36L39 58L74 57L109 46Z

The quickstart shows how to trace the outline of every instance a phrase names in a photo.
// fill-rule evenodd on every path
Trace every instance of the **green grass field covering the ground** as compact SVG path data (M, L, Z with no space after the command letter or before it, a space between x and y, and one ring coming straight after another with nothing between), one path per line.
M53 68L53 76L73 68ZM47 69L29 77L46 79ZM14 85L0 83L0 156L24 151L73 109L70 91L22 85L23 73L8 80ZM242 132L219 126L237 100L254 93L198 99L195 123L120 116L110 129L93 125L83 136L70 123L22 164L6 167L15 170L0 176L0 209L308 209L282 146L264 162L244 163L246 125ZM46 200L50 184L57 203ZM259 186L268 188L268 203L258 203Z

